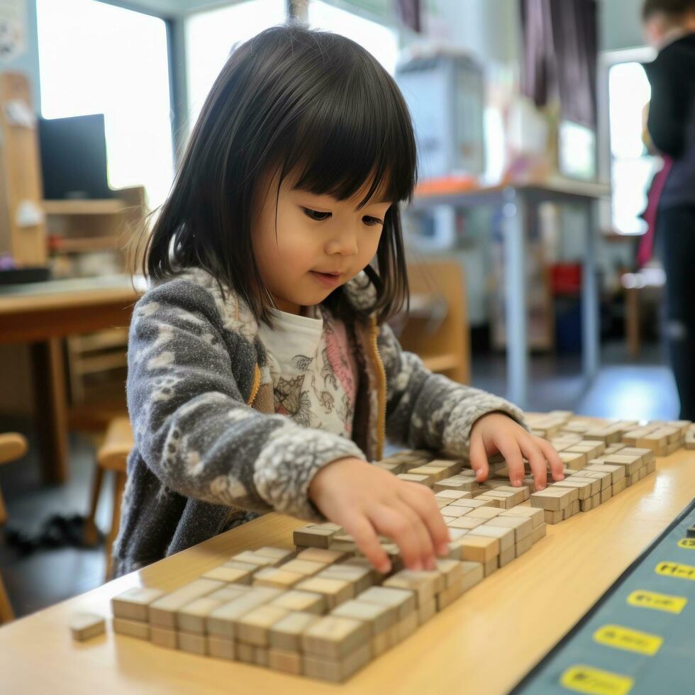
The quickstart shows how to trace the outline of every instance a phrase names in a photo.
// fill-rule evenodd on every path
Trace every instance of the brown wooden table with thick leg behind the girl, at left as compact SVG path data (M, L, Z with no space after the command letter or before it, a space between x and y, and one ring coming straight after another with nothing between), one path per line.
M68 474L67 396L60 339L128 326L139 296L125 275L0 287L0 343L31 344L46 482L63 482Z

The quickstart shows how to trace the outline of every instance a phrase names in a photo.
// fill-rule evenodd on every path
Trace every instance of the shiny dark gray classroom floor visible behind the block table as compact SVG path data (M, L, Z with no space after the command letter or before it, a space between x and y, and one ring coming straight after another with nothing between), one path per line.
M504 394L504 357L474 355L475 387ZM531 365L531 411L572 410L598 417L674 419L678 401L673 377L664 365L658 345L645 345L638 360L628 360L624 343L608 344L601 354L601 370L589 389L581 377L579 355L560 358L534 357ZM6 423L4 423L5 426ZM38 474L35 436L22 423L11 426L29 439L30 452L20 461L0 468L9 513L9 528L37 533L55 513L85 513L94 467L94 446L84 435L70 437L70 481L62 486L43 486ZM111 515L110 484L104 485L97 517L102 529ZM26 557L5 543L0 530L0 571L16 616L82 594L101 584L104 552L101 547L43 549Z

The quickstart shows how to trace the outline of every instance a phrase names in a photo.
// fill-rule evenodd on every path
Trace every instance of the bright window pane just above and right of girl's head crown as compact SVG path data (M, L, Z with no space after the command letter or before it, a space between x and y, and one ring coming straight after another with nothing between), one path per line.
M308 20L313 28L333 31L359 43L384 66L389 74L396 72L398 35L394 30L321 0L309 2Z

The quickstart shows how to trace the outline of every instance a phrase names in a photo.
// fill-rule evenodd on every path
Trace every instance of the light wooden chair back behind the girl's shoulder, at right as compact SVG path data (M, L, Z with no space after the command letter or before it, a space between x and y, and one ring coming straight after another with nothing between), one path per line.
M404 350L433 372L470 382L470 336L463 269L452 260L408 263L411 312L399 334Z

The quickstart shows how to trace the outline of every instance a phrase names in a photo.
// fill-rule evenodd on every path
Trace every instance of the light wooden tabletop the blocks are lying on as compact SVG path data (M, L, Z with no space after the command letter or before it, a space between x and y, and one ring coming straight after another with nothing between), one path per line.
M507 692L599 599L695 496L695 452L556 526L522 557L435 615L340 687L341 692ZM111 615L112 596L144 584L172 590L229 555L291 545L301 522L269 514L87 594L0 628L0 689L51 693L325 694L337 686L106 635L73 643L75 611Z

